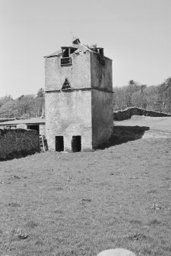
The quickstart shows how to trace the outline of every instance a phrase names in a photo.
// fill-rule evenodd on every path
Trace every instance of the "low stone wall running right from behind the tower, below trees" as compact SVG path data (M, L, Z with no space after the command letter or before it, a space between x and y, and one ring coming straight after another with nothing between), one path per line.
M126 120L128 118L131 118L132 115L147 115L147 116L152 116L152 117L171 116L169 114L162 113L162 112L155 112L155 111L150 111L150 110L146 110L146 109L140 109L137 107L132 107L132 108L113 112L113 120L115 120L115 121Z

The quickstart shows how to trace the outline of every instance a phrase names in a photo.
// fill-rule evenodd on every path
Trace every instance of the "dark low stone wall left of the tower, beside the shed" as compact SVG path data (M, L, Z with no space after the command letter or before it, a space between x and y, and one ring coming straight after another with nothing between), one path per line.
M25 157L40 151L37 131L0 129L0 160Z

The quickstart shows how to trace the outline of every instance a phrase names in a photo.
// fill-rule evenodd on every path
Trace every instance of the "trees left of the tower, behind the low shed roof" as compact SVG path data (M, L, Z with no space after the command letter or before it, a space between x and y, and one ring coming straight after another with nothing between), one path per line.
M36 118L44 113L44 90L40 88L36 95L22 95L17 99L11 96L0 98L0 118Z

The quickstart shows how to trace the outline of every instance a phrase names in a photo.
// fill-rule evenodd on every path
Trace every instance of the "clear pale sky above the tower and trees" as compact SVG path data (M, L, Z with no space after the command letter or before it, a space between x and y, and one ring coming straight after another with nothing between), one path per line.
M104 47L113 90L171 76L171 0L0 0L0 97L44 87L43 56L71 44Z

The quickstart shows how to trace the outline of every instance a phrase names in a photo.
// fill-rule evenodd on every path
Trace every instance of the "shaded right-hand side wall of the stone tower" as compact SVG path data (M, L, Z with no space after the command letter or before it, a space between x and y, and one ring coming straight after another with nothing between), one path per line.
M100 64L97 53L91 54L92 144L93 148L109 141L112 135L112 60L104 57Z

